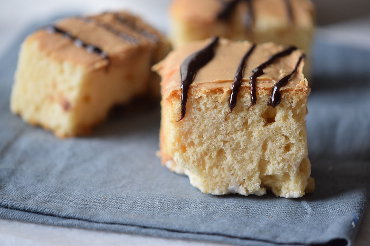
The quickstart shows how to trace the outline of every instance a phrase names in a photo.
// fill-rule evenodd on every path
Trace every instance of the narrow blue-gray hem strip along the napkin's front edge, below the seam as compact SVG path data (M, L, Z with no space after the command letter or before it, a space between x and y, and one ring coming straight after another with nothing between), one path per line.
M111 222L95 222L87 219L78 219L72 217L57 216L53 214L43 214L41 212L29 212L20 209L0 207L0 218L18 220L24 222L31 222L36 224L66 226L83 229L94 229L102 231L132 233L145 236L157 236L162 238L172 239L185 239L185 240L200 240L212 241L220 243L229 243L235 245L248 245L248 246L276 246L276 245L337 245L346 246L351 245L351 239L348 236L343 238L331 239L327 242L315 242L314 244L301 244L301 243L274 243L268 240L258 240L252 238L241 238L230 235L221 235L216 233L201 233L201 232L186 232L174 229L155 228L141 225L118 224ZM355 233L354 233L355 234Z

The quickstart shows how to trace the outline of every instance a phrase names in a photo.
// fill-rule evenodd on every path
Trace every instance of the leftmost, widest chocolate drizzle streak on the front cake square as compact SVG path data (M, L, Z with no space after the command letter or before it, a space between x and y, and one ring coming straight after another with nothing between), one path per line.
M215 55L215 47L218 44L218 39L218 37L213 38L211 43L203 49L192 53L181 63L181 118L178 121L181 121L185 117L189 86L193 82L196 72L212 60Z

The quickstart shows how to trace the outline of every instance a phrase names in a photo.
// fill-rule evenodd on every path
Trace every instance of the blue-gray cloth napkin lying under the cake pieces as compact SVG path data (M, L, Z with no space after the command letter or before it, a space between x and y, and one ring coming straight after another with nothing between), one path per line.
M27 30L25 33L30 33ZM9 111L21 37L0 59L0 217L238 245L350 245L367 204L370 51L317 41L307 132L316 190L201 193L155 156L159 108L60 140Z

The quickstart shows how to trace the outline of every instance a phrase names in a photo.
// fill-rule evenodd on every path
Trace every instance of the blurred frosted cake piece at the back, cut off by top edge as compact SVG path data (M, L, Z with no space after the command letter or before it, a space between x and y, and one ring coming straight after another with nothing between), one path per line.
M169 13L170 38L175 48L220 36L295 45L308 52L313 10L310 0L174 0Z

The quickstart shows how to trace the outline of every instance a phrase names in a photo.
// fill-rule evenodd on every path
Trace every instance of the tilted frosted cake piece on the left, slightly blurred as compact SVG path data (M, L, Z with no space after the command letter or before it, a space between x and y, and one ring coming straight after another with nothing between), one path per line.
M23 42L11 111L62 138L88 134L112 106L159 97L150 67L170 49L163 35L125 12L58 21Z

